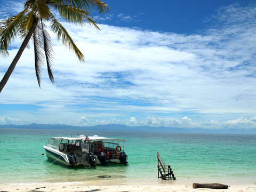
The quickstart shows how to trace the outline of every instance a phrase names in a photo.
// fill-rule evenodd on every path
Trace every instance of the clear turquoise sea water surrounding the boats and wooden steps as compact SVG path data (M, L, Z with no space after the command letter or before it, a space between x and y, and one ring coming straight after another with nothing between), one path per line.
M50 137L77 133L125 139L129 166L75 169L51 164L42 156ZM171 165L177 178L174 183L256 181L256 135L0 129L0 144L0 183L165 183L157 179L157 151Z

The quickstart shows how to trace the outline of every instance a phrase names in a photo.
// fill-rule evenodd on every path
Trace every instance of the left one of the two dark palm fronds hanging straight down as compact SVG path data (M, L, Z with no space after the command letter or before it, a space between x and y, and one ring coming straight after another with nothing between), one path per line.
M43 66L43 59L44 55L42 54L42 42L40 41L39 37L41 37L41 27L38 25L36 30L34 31L34 53L35 53L35 71L36 71L36 78L39 87L41 87L41 71Z

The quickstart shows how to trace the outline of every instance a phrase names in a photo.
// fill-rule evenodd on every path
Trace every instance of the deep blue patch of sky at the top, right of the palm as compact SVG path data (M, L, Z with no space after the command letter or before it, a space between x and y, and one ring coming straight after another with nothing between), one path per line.
M158 2L132 0L127 3L119 0L108 0L106 3L109 4L111 11L105 17L101 17L101 23L190 35L209 28L212 23L205 21L216 14L216 11L221 7L234 3L246 6L252 2L246 0Z

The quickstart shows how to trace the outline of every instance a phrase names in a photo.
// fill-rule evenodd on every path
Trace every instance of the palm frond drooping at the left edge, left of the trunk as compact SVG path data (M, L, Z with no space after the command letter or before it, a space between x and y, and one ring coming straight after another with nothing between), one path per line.
M21 23L28 9L25 9L0 22L0 53L9 55L7 48L17 35L20 35Z

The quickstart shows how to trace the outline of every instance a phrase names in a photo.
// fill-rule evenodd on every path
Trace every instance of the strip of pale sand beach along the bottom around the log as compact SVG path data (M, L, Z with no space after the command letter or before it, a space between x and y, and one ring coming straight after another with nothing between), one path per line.
M111 186L89 186L77 185L77 183L6 183L0 184L0 191L256 191L254 185L231 185L228 189L193 189L191 185L111 185Z

